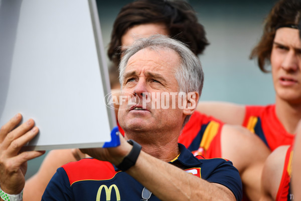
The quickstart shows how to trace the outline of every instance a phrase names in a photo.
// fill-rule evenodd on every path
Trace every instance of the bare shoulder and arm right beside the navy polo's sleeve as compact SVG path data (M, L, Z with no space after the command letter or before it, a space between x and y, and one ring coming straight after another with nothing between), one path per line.
M261 172L270 154L266 145L242 126L225 124L221 131L222 157L238 169L244 190L251 200L259 200Z

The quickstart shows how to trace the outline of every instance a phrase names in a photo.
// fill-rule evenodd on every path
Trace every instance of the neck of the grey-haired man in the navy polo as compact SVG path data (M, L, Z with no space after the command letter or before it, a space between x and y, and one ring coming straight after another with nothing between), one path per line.
M171 138L171 136L175 136ZM142 150L147 154L163 161L169 162L176 158L179 153L179 135L152 134L147 133L125 133L125 139L132 139L142 146ZM169 137L169 138L167 138Z

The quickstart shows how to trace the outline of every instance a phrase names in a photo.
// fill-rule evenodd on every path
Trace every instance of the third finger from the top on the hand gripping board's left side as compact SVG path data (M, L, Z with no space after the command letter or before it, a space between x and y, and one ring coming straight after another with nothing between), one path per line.
M37 134L39 133L38 127L34 127L33 129L29 130L24 135L20 136L19 138L13 140L7 151L9 155L16 155L20 151L20 149L26 145L29 141L31 141ZM6 141L6 139L5 139ZM5 143L5 142L4 142Z

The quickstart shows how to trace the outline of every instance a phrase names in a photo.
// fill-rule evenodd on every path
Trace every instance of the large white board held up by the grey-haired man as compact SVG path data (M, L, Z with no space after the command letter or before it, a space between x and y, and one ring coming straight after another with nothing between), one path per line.
M0 125L33 118L27 149L114 141L105 58L94 0L0 0Z

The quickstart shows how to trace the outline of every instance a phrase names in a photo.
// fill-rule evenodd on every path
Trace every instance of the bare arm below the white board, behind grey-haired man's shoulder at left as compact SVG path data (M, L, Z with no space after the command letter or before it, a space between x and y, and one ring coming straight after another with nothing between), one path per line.
M57 168L70 161L77 160L73 155L73 151L75 150L60 149L50 151L43 160L39 171L26 181L23 200L41 200L43 192Z

